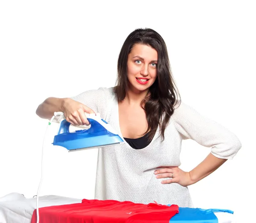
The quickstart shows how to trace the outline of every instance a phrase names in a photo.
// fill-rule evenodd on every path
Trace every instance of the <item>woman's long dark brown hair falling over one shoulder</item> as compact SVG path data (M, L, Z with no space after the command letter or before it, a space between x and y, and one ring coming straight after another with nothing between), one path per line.
M157 78L141 102L141 107L145 110L147 117L148 129L145 133L148 133L148 138L153 139L159 125L161 136L164 139L164 131L174 112L175 104L178 101L177 97L180 95L172 77L166 43L156 31L148 28L135 29L128 35L119 54L118 75L114 90L118 101L122 101L128 90L128 54L137 43L151 46L157 51Z

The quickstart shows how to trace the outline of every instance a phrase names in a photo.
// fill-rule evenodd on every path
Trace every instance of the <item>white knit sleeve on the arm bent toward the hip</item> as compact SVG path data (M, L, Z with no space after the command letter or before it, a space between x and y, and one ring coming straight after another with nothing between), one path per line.
M234 133L183 102L175 109L172 120L183 139L211 148L211 153L218 158L233 159L241 148Z

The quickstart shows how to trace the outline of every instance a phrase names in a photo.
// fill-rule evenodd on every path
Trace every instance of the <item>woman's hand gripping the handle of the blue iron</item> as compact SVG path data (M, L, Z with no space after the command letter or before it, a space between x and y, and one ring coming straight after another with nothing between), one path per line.
M70 122L70 124L74 126L90 125L84 113L95 113L86 105L71 98L66 98L64 101L63 111L67 122Z

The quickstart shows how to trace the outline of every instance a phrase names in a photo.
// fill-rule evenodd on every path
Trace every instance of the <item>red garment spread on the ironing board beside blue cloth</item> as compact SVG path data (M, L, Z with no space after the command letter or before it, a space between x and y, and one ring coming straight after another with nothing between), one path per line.
M39 209L39 223L169 223L177 205L139 204L130 201L86 200L82 203ZM36 223L36 209L31 223Z

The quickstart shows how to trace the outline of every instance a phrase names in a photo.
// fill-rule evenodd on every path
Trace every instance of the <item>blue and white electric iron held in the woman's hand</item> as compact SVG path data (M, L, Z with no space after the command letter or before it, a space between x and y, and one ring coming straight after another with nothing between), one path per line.
M70 152L124 143L111 125L100 117L99 113L86 114L86 117L90 128L75 132L70 132L70 122L63 119L52 144L62 146Z

